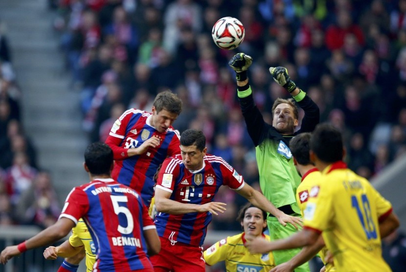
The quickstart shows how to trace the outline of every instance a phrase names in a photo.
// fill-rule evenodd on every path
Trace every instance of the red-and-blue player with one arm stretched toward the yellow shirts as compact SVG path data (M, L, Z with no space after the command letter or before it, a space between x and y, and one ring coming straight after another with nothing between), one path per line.
M201 246L212 214L226 210L226 204L213 202L222 185L270 212L284 226L299 223L245 183L224 159L206 154L205 144L201 131L184 131L180 136L180 155L166 159L159 171L155 224L162 248L158 255L151 257L156 272L205 271Z

